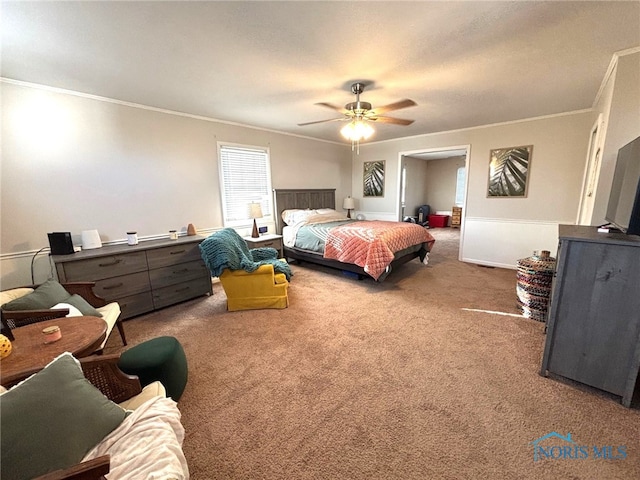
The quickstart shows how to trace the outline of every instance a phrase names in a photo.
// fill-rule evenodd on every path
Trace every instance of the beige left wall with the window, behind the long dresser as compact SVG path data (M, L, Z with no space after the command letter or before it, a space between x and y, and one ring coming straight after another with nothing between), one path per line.
M268 147L274 188L351 194L351 148L2 82L0 288L30 283L47 233L103 242L222 227L217 142ZM78 242L80 243L80 242ZM36 281L49 275L38 257Z

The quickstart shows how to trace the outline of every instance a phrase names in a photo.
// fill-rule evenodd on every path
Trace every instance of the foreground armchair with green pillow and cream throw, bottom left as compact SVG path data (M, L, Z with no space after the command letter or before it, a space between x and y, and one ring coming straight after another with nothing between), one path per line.
M189 478L177 404L118 358L67 352L0 394L3 480Z

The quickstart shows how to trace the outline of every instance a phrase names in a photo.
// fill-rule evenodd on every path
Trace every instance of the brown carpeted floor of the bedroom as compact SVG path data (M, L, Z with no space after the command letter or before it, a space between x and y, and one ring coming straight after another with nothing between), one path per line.
M459 232L431 233L429 266L382 284L294 264L286 310L227 312L216 283L125 322L130 345L185 348L192 479L640 478L637 407L541 377L542 323L463 310L517 314L515 271L459 262ZM549 438L565 457L534 461L551 432L575 443Z

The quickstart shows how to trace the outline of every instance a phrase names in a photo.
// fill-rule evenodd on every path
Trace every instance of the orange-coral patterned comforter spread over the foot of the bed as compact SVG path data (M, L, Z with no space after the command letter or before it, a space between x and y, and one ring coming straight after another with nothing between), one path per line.
M377 280L396 252L420 243L431 250L434 242L428 230L415 223L351 222L329 230L324 257L363 267Z

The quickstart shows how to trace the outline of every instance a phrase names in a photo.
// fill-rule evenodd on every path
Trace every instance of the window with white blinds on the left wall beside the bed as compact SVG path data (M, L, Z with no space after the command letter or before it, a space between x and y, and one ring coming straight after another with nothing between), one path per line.
M218 148L224 226L249 225L252 202L260 204L264 219L273 221L269 149L231 144Z

